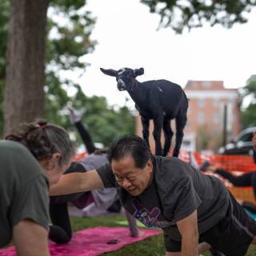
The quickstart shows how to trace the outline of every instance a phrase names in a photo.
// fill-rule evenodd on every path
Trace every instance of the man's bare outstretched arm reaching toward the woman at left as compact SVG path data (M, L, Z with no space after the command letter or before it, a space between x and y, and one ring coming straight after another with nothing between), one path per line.
M103 188L102 179L96 170L86 173L62 175L59 182L50 186L50 195L73 194Z

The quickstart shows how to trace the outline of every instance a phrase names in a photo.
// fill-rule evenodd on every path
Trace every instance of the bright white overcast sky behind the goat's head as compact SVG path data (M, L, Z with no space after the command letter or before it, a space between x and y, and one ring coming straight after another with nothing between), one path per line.
M182 87L188 80L222 80L226 88L238 88L256 74L256 10L230 30L206 25L183 34L157 30L160 17L139 0L87 0L86 10L97 17L91 38L98 45L82 58L90 63L86 72L73 78L87 96L105 96L110 105L134 103L100 67L143 67L138 81L167 79Z

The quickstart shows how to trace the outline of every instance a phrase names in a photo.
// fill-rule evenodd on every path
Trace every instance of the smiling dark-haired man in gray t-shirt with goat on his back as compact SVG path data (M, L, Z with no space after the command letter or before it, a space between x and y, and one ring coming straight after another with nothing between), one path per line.
M242 256L256 243L256 222L218 178L178 158L151 155L136 135L114 142L109 161L87 174L63 175L50 194L116 187L134 218L164 230L166 256L198 256L210 246L226 256Z

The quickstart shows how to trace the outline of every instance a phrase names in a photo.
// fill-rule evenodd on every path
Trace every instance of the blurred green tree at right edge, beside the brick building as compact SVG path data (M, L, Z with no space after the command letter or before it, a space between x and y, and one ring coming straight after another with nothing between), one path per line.
M246 109L242 109L242 126L256 126L256 75L252 75L245 87L240 90L243 101L249 101Z

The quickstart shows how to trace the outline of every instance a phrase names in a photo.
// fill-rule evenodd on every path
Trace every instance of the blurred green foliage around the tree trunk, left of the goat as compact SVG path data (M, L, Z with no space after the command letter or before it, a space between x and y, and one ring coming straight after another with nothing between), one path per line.
M3 92L6 69L6 45L9 0L0 2L0 134L3 130ZM106 98L88 98L81 87L63 70L82 74L88 63L81 57L94 51L97 42L90 39L95 18L85 10L85 0L52 0L48 10L46 42L46 119L74 130L66 116L66 105L72 102L78 110L86 110L83 121L89 126L94 142L109 145L119 135L134 132L134 117L126 107L115 110ZM71 93L69 93L72 91ZM71 94L71 96L70 96ZM79 140L79 136L77 136Z

